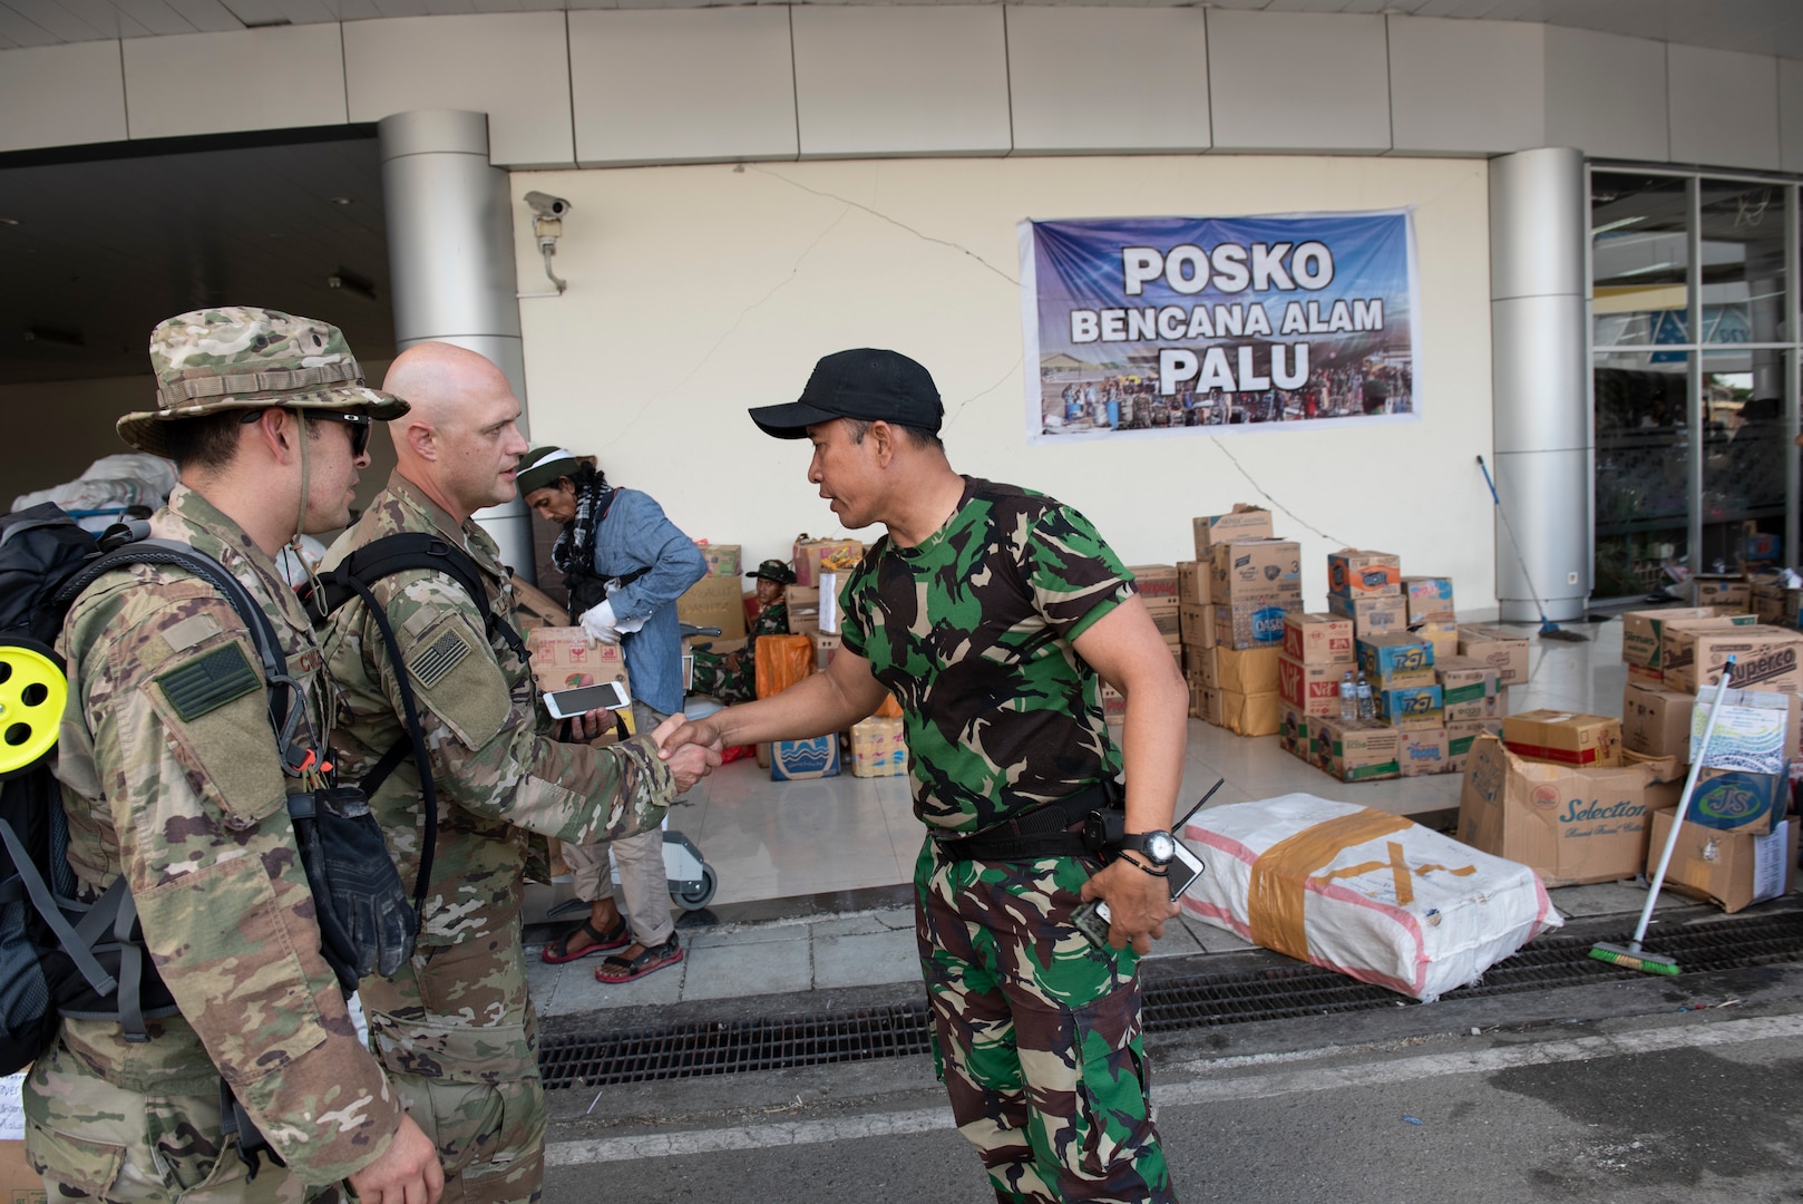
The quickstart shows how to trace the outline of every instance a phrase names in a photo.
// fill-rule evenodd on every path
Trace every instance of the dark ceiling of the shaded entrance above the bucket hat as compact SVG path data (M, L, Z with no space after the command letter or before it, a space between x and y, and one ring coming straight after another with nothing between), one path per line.
M373 137L7 168L0 215L20 222L0 226L0 383L141 374L150 329L200 305L287 309L368 359L395 350ZM346 273L373 300L326 283Z

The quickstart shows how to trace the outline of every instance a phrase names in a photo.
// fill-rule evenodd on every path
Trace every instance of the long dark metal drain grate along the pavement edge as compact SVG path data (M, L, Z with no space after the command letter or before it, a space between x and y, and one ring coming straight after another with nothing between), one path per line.
M1628 933L1605 937L1626 944ZM1588 957L1596 937L1542 937L1498 962L1482 982L1446 998L1549 991L1644 978ZM1803 959L1803 913L1691 924L1657 933L1653 951L1686 975ZM1242 975L1190 975L1145 984L1145 1027L1168 1033L1217 1023L1287 1020L1396 1007L1403 996L1316 966ZM548 1036L539 1047L546 1088L869 1061L929 1049L927 1005L867 1007L829 1016L680 1023L606 1036Z

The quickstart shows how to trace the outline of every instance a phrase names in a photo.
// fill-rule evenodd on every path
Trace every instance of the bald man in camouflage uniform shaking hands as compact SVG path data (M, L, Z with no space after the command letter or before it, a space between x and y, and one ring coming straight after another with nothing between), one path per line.
M395 473L326 563L382 536L431 533L474 560L489 614L444 572L413 569L373 583L404 664L393 662L361 601L335 612L325 641L341 688L332 735L341 769L361 778L402 738L397 671L406 671L438 792L418 948L391 982L366 978L362 1002L377 1054L438 1146L445 1199L537 1200L545 1094L519 940L528 836L579 845L649 830L719 756L685 751L662 762L664 727L606 749L550 738L552 720L507 639L512 632L490 635L489 616L514 621L510 574L471 520L514 498L526 451L519 401L499 368L449 343L402 352L382 388L413 406L389 426ZM599 735L602 713L579 724L579 735ZM370 805L402 881L415 881L424 803L411 760Z

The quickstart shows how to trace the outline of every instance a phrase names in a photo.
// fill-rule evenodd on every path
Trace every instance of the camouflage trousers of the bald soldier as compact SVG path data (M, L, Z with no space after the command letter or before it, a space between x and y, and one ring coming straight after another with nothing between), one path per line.
M519 913L424 946L393 978L364 978L361 995L370 1047L438 1148L442 1204L537 1204L545 1087Z

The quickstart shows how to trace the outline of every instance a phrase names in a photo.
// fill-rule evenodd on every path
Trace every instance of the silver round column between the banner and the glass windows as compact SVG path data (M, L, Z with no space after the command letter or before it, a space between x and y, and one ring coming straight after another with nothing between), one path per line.
M1538 621L1534 590L1556 623L1581 619L1590 596L1588 231L1581 152L1489 161L1493 460L1522 549L1516 558L1498 520L1496 603L1506 623Z

